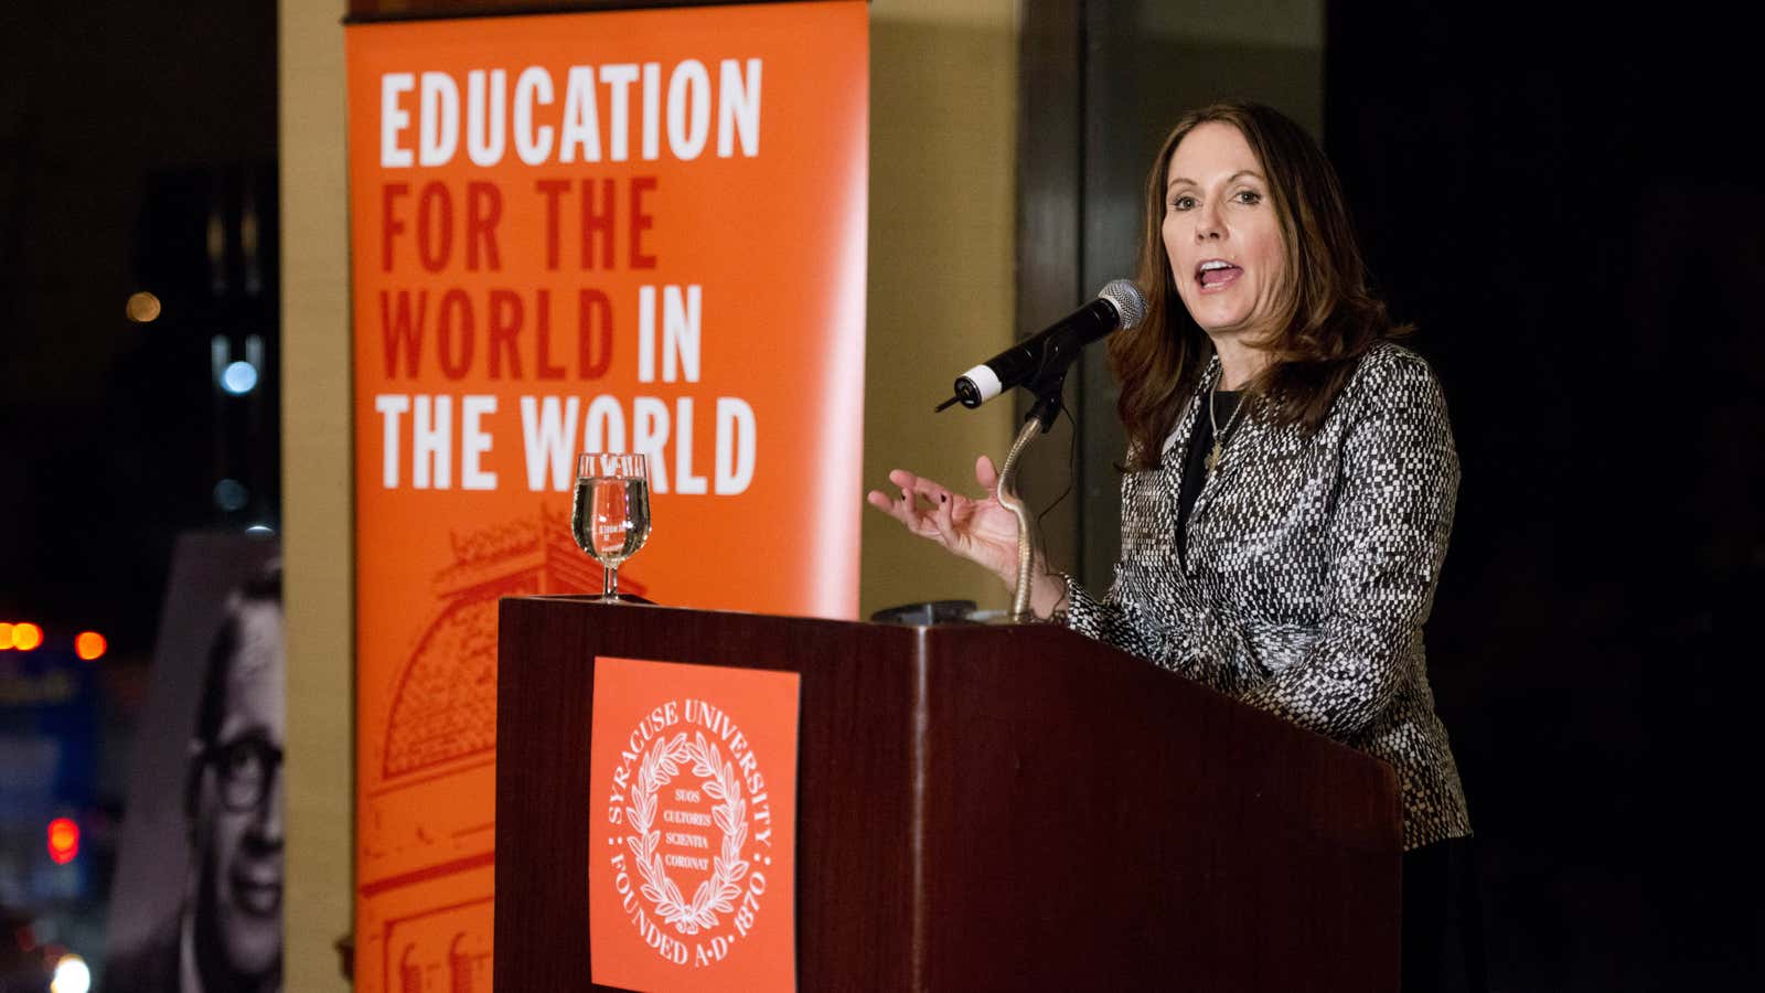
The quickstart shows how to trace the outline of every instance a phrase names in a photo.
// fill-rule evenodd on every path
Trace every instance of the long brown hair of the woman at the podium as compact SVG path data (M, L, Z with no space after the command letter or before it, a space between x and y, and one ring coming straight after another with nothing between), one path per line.
M1130 470L1160 463L1163 440L1213 355L1213 341L1177 295L1163 239L1170 155L1190 131L1207 122L1236 127L1262 163L1287 249L1285 286L1276 293L1278 330L1257 343L1271 360L1246 387L1269 403L1251 410L1274 424L1315 431L1361 355L1410 330L1394 327L1386 304L1366 288L1366 263L1354 240L1336 170L1317 141L1262 104L1220 102L1191 111L1165 138L1145 178L1138 279L1145 318L1108 343L1110 368L1121 380L1115 406L1128 429Z

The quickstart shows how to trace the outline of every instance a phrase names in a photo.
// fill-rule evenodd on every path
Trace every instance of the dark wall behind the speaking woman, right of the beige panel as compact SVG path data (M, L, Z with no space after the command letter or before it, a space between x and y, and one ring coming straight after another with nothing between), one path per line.
M1491 986L1753 988L1756 57L1691 11L1544 7L1029 5L1020 327L1131 270L1140 184L1181 111L1248 97L1313 127L1463 461L1428 648ZM1093 588L1119 525L1101 366L1068 383L1078 428L1027 486L1048 505L1075 482L1045 527Z

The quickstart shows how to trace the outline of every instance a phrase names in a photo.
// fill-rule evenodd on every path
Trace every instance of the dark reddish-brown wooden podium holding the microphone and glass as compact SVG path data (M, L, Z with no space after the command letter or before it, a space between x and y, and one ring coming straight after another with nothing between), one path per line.
M588 988L597 656L801 673L798 989L1398 988L1396 776L1048 625L501 601L496 988Z

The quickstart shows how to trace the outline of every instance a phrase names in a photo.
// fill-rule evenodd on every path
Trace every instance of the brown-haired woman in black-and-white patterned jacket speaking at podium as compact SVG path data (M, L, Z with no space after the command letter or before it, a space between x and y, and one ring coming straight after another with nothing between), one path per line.
M1403 988L1454 986L1470 822L1423 654L1458 491L1440 385L1393 343L1408 329L1366 288L1324 152L1269 108L1209 106L1165 140L1138 283L1145 320L1108 346L1115 580L1098 597L1038 562L1031 608L1389 762ZM868 502L1013 587L1017 518L992 461L974 475L983 498L895 470Z

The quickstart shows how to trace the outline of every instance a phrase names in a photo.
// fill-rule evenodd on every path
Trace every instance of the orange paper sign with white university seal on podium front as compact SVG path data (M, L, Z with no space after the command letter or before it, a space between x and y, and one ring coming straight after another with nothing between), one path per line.
M796 988L794 671L595 659L593 981Z

